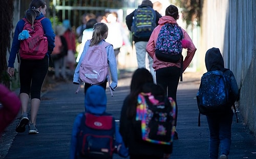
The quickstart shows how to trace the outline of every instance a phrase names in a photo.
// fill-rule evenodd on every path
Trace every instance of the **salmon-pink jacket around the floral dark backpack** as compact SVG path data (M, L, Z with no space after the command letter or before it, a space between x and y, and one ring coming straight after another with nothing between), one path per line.
M168 67L168 66L177 66L180 68L180 61L177 63L164 62L164 61L158 60L155 56L155 45L157 42L157 37L158 37L158 34L159 34L162 26L166 23L177 24L177 21L172 16L162 16L158 21L159 25L152 32L150 40L148 40L147 46L146 46L147 53L153 58L153 61L154 61L153 68L155 69L155 71L158 69L161 69L163 67ZM189 65L189 63L192 61L197 49L196 49L193 41L187 34L187 32L184 29L182 29L182 31L183 31L184 40L187 40L190 43L187 48L187 55L183 62L183 72L184 72L186 70L187 66Z

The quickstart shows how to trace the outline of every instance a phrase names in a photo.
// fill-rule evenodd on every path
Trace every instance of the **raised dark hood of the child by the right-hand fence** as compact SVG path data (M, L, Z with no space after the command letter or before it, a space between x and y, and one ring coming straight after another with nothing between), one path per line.
M220 49L211 48L205 54L205 66L207 71L224 70L224 60Z

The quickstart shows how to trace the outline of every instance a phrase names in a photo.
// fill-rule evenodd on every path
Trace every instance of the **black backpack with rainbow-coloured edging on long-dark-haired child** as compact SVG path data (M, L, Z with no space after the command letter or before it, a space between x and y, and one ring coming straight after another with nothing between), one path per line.
M152 84L152 90L159 85ZM154 90L154 91L155 91ZM143 141L171 145L175 132L176 103L169 97L140 93L136 109L136 122L141 123L141 138Z

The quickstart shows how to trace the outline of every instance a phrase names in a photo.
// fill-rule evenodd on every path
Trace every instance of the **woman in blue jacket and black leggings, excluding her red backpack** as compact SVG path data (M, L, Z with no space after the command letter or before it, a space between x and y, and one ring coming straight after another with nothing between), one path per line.
M45 17L46 14L46 2L43 0L32 0L29 9L26 11L25 18L31 23L34 20L39 20ZM40 105L40 93L41 86L44 82L48 71L49 56L54 48L55 34L52 29L52 24L49 18L41 20L42 28L45 36L48 39L48 52L43 59L40 60L28 60L20 59L19 67L19 79L20 79L20 92L19 98L22 102L22 115L19 123L16 126L16 132L24 132L26 125L29 124L29 134L39 133L36 128L36 116ZM14 62L16 55L20 49L20 40L24 40L27 34L20 34L23 31L25 21L20 19L17 22L14 37L12 41L12 48L8 61L7 72L10 77L14 75ZM24 37L23 37L24 36ZM28 103L31 97L31 119L28 118Z

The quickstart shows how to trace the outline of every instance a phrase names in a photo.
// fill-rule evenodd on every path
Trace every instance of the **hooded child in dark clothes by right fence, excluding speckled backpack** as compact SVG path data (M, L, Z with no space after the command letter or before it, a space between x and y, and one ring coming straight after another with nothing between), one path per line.
M225 69L224 60L218 48L211 48L205 54L205 66L207 72L224 71L227 75L227 81L230 84L230 100L235 102L238 98L238 85L232 71ZM223 116L206 116L210 131L209 157L210 159L226 159L231 145L231 124L233 111L230 109Z

